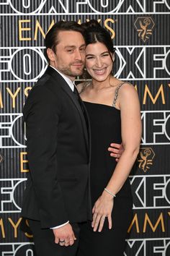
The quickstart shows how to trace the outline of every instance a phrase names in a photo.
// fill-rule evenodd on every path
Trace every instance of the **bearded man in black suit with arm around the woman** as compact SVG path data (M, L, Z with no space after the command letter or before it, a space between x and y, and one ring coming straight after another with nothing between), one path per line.
M89 119L73 84L84 69L86 45L81 26L62 21L45 44L50 66L23 111L30 176L22 216L29 219L37 256L72 256L79 223L91 219Z

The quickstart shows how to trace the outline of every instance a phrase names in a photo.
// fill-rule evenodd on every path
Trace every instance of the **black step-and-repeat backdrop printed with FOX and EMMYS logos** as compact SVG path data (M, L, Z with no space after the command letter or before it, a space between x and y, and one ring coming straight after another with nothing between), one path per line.
M115 76L135 86L141 104L143 137L130 174L134 216L124 255L170 255L169 14L169 0L0 0L1 256L35 255L19 215L28 172L22 107L47 67L45 34L58 20L92 18L109 30Z

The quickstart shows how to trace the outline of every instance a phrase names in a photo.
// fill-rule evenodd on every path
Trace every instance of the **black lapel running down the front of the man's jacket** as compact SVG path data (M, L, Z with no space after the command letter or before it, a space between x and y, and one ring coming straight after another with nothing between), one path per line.
M61 88L71 98L71 101L76 106L77 111L79 111L79 115L80 115L80 118L81 118L81 123L82 123L83 131L84 131L84 137L85 137L85 141L86 141L86 147L87 147L87 149L89 151L89 145L90 144L89 144L89 136L88 136L88 132L87 132L87 125L89 127L89 117L88 117L88 114L87 114L87 111L86 111L86 107L84 106L84 112L86 114L86 120L87 120L88 124L86 124L86 121L85 121L85 118L84 118L84 114L83 114L83 111L81 109L81 106L80 106L79 102L76 101L76 99L74 98L73 91L71 90L71 88L69 87L67 82L63 79L63 77L61 77L61 75L57 71L55 71L55 69L53 69L52 67L48 67L46 72L48 74L50 74L54 78L55 81L58 81L60 83Z

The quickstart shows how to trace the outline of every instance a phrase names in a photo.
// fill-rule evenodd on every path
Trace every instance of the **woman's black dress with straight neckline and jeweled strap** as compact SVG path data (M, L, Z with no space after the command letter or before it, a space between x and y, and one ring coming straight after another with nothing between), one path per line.
M121 143L120 110L113 106L84 102L91 125L91 200L92 206L107 186L117 162L109 155L111 142ZM107 218L102 232L94 232L91 222L81 224L77 256L123 256L125 238L132 220L132 195L129 179L114 198L112 229Z

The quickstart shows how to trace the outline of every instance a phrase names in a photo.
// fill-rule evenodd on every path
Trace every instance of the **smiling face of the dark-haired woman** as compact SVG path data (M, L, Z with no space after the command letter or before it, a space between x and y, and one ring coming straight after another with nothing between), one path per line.
M90 43L86 46L86 70L94 80L102 82L112 72L112 59L103 43Z

